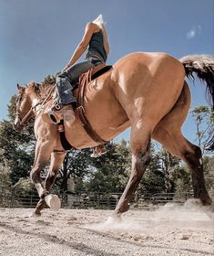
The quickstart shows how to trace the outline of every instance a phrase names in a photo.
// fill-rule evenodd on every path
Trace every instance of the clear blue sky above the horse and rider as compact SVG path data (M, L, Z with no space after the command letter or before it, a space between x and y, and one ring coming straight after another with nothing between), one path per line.
M39 82L64 68L99 14L107 22L108 64L134 51L214 54L214 0L0 0L0 120L16 83ZM207 104L205 87L189 85L192 106ZM183 131L194 140L191 119Z

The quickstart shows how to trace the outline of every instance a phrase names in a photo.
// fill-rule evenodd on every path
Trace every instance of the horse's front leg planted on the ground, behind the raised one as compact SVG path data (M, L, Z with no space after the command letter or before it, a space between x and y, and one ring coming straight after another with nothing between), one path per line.
M51 187L54 185L58 170L62 165L65 156L66 156L66 152L64 151L53 152L51 154L50 168L46 176L46 181L44 186L46 191L49 192ZM46 200L44 198L41 198L36 205L35 214L40 215L41 210L45 207L46 207Z

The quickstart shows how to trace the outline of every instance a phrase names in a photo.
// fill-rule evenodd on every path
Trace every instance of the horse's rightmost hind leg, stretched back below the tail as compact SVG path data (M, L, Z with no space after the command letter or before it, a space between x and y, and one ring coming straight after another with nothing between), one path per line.
M152 138L163 144L171 155L178 156L189 165L194 197L199 198L203 205L210 205L211 199L205 187L200 148L189 143L181 133L181 125L188 111L189 88L185 86L174 108L156 126Z

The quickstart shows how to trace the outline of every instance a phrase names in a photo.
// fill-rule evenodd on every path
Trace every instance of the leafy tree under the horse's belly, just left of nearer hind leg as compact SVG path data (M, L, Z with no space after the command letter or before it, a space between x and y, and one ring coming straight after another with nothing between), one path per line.
M91 172L85 177L88 191L122 193L130 173L131 154L125 140L107 144L107 154L92 162Z

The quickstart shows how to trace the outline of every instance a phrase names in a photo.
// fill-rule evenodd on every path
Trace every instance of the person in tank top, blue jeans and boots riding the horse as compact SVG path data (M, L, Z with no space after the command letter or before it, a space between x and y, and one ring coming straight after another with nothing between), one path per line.
M86 50L85 60L75 64L76 60ZM65 69L56 77L57 97L52 108L43 114L43 119L46 123L59 123L62 117L69 123L75 121L74 108L76 108L76 98L73 95L74 84L79 76L87 72L88 69L100 63L105 63L108 53L107 29L102 15L100 15L93 22L87 23L84 37Z

